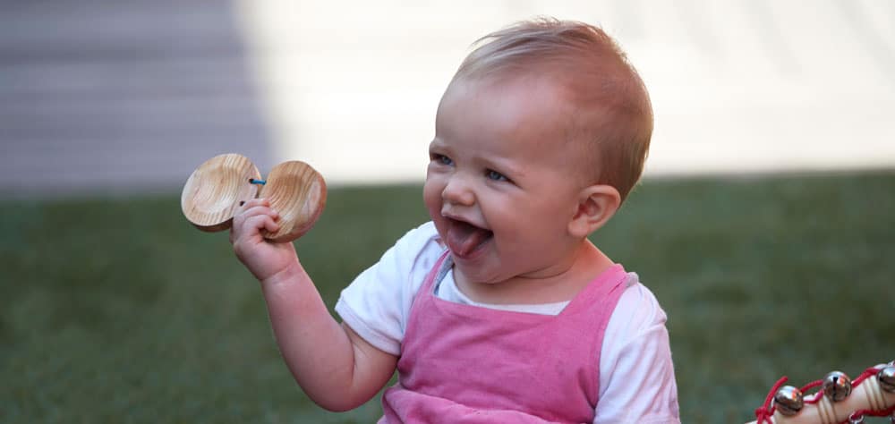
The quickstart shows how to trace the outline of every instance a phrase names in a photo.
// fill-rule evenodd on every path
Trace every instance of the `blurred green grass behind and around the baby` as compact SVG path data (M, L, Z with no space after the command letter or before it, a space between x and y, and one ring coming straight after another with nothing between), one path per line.
M420 191L330 191L297 243L330 306L426 219ZM226 233L176 195L7 200L0 233L0 422L379 417L303 395ZM668 312L684 422L745 422L782 375L895 359L891 172L647 181L594 241Z

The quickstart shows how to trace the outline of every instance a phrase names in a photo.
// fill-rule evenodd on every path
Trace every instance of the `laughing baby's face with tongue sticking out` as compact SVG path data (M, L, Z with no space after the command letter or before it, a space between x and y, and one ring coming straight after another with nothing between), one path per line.
M584 188L568 107L536 78L455 81L442 98L423 197L470 281L548 276L568 255Z

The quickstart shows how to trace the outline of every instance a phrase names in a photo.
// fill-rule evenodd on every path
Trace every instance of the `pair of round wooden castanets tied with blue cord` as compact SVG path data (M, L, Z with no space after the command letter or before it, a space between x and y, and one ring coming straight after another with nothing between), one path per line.
M242 155L212 157L183 185L183 216L202 231L217 232L233 225L236 208L257 197L270 200L279 213L277 233L263 232L271 242L292 242L311 230L326 206L327 186L311 165L299 161L274 167L268 181Z

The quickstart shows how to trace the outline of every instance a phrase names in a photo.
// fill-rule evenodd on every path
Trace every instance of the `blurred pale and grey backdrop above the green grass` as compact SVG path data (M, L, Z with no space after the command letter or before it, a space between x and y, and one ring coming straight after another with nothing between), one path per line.
M421 182L468 47L550 14L643 74L648 175L895 164L895 5L796 1L6 2L0 184L176 189L205 159Z

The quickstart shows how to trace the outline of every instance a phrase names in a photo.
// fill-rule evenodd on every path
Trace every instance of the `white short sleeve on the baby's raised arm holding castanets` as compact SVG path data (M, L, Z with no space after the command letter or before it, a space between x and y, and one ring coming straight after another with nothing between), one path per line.
M339 296L336 312L368 343L400 354L413 297L443 251L435 225L414 228L354 278Z

